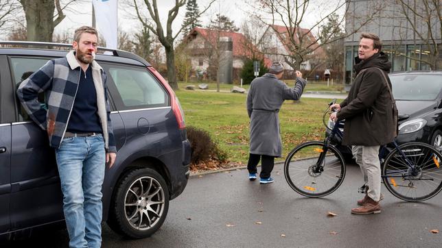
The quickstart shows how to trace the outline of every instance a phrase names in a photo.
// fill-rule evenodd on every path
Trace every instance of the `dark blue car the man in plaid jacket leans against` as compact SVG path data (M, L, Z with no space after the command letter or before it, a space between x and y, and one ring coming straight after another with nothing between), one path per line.
M37 49L48 45L51 49ZM15 92L48 60L67 54L54 47L71 45L0 46L0 238L14 239L35 227L65 223L54 149ZM125 236L143 238L161 227L169 201L187 184L191 148L184 114L172 88L146 60L126 51L100 50L110 51L96 60L108 75L117 143L117 160L106 168L102 187L103 221ZM39 98L44 104L44 95Z

